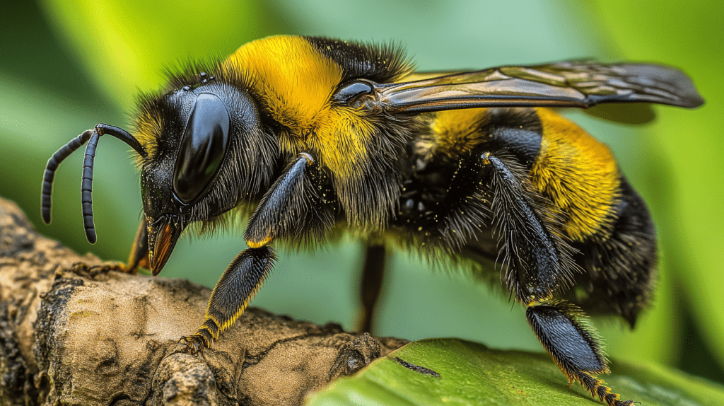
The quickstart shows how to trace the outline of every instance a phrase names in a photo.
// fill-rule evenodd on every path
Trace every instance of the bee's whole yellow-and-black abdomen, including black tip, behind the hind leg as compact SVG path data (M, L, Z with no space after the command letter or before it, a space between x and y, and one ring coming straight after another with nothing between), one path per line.
M476 258L499 258L500 246L481 238L494 227L488 214L493 185L471 162L486 152L506 156L523 172L536 210L550 220L548 231L579 251L573 259L584 271L573 273L578 288L569 300L594 313L620 314L631 324L650 301L657 253L649 212L609 148L578 125L549 109L444 111L435 116L429 138L418 140L417 151L424 165L408 193L431 213L405 212L408 223ZM437 200L424 198L432 191ZM460 224L480 232L471 239L460 233Z

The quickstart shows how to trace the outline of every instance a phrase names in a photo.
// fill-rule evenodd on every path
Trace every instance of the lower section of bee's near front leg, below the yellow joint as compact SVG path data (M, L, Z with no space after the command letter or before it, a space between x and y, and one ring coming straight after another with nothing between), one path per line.
M234 258L211 292L201 327L192 336L181 337L192 354L203 352L241 316L276 259L269 245L243 250Z

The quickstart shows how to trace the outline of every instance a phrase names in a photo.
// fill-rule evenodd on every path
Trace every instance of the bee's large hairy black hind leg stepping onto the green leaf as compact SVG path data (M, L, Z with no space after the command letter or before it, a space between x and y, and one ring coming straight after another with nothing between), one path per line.
M547 200L528 184L524 169L492 153L481 156L491 171L494 190L493 224L507 265L503 279L515 299L528 305L526 318L534 334L551 355L569 384L578 381L609 406L629 406L594 375L609 373L602 344L580 309L563 300L551 300L571 284L580 268L573 248L560 235L560 222L552 218Z

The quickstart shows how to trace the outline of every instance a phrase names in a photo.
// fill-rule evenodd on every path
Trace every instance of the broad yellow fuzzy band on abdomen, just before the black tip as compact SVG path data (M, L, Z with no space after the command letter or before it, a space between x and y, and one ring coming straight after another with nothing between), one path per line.
M543 136L531 182L567 215L568 237L584 240L605 225L618 198L618 166L608 147L581 127L550 109L536 111Z

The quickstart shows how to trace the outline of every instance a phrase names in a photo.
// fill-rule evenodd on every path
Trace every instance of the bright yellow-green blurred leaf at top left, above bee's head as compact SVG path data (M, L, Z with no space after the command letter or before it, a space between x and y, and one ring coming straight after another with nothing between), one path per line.
M261 1L50 0L44 6L88 76L121 109L132 104L138 90L163 83L161 68L180 58L229 54L266 35L264 25L271 19ZM214 26L218 29L198 29Z

